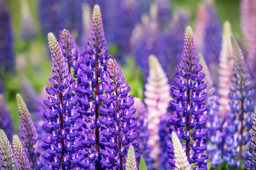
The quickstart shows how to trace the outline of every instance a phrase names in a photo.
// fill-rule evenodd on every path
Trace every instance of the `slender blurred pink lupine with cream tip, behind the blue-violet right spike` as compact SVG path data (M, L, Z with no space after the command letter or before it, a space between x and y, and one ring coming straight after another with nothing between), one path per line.
M231 44L231 26L229 21L224 22L223 34L222 34L222 45L221 45L221 55L220 55L220 64L218 71L218 94L220 95L219 103L221 113L230 111L228 97L229 88L231 86L230 79L232 78L232 69L233 69L233 50ZM224 116L224 115L222 115Z

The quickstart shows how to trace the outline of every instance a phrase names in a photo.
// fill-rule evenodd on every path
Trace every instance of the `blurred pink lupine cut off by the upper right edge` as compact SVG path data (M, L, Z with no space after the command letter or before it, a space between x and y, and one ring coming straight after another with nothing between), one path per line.
M256 78L255 63L256 58L256 0L241 0L241 30L247 43L248 54L246 63L248 71L252 76L253 86L255 87Z

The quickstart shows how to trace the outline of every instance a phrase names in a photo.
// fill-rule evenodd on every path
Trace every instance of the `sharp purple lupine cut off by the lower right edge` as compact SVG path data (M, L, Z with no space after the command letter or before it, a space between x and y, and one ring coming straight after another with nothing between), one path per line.
M244 161L244 165L247 170L256 169L256 105L254 106L253 113L253 128L250 140L250 148L246 152L246 161Z

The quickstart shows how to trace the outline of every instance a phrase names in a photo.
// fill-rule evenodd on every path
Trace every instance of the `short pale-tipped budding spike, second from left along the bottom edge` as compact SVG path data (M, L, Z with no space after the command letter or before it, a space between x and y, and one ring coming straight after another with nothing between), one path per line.
M20 139L17 135L14 135L12 138L13 152L20 163L21 170L32 170L30 168L29 159L26 156L24 148L20 142Z

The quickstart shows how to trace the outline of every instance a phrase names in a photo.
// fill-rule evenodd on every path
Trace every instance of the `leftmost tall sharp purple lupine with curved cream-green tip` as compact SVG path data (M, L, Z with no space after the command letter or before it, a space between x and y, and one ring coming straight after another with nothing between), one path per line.
M50 96L44 100L49 108L44 111L47 122L43 124L43 128L47 136L43 139L43 147L47 153L43 156L48 160L48 166L44 170L87 168L90 164L84 161L85 153L79 151L82 136L77 136L77 132L85 122L78 120L78 97L73 93L75 85L70 84L72 76L68 73L68 64L52 33L48 34L48 43L52 55L52 77L49 78L52 86L45 89Z

